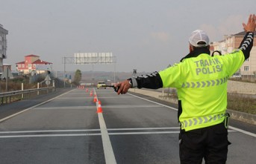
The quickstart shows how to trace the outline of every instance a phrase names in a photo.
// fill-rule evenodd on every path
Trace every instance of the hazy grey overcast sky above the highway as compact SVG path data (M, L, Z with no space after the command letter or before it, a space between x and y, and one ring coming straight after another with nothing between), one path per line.
M130 72L163 70L188 53L193 30L210 42L243 31L255 0L0 0L0 24L9 31L12 65L34 54L63 70L63 56L111 52L116 65L66 65L80 69Z

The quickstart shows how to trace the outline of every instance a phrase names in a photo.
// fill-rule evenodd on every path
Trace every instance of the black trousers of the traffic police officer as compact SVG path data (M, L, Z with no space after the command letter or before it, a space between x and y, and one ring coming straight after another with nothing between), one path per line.
M181 164L226 163L228 154L228 129L224 123L179 134Z

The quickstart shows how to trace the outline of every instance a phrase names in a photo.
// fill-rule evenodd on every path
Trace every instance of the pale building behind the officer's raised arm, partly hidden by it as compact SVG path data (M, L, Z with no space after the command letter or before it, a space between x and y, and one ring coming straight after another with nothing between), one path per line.
M213 47L213 50L219 50L222 54L231 53L240 46L245 35L246 32L240 32L225 36L225 39L213 42L210 46ZM254 37L256 37L256 32ZM253 45L249 59L246 59L240 70L237 70L242 76L256 76L256 39L254 39Z

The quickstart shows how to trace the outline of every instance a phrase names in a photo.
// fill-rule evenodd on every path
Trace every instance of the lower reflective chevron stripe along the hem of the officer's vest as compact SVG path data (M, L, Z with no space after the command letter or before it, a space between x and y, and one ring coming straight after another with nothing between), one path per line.
M222 119L222 117L224 117L225 114L216 114L213 116L207 116L207 117L197 117L197 118L193 118L193 119L185 119L183 122L181 122L181 128L187 128L190 126L194 126L194 125L200 125L200 124L205 124L207 122L211 122L211 121L216 121L218 119Z

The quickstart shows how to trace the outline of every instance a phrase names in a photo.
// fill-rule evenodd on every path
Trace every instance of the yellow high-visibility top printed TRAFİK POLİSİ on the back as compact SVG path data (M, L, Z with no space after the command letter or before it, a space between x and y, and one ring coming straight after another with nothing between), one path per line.
M178 118L181 129L190 131L223 122L228 77L244 60L242 50L213 57L202 53L159 72L163 88L177 88L182 107Z

